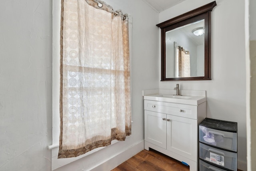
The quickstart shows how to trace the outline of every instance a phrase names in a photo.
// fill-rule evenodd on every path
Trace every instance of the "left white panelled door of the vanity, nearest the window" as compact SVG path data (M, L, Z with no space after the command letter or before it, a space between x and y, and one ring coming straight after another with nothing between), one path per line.
M166 149L166 114L145 110L145 141Z

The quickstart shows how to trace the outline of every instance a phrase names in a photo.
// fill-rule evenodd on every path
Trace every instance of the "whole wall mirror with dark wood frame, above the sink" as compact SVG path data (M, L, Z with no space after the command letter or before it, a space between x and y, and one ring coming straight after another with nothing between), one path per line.
M211 80L211 11L216 2L157 24L161 81Z

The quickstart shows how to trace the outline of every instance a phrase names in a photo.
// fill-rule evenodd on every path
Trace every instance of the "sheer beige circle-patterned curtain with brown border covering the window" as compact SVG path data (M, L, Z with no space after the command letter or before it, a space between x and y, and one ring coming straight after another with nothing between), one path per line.
M131 134L128 17L99 2L62 0L58 158Z

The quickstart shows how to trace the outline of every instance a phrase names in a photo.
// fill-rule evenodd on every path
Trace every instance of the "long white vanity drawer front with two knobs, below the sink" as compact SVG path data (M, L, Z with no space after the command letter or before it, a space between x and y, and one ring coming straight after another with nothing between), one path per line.
M144 109L180 117L197 119L197 106L144 100Z

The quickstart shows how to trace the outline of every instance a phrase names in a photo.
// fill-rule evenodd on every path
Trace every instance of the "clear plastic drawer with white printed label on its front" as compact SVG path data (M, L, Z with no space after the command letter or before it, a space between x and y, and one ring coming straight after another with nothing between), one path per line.
M236 171L237 170L237 153L224 151L199 143L199 157L221 167Z

